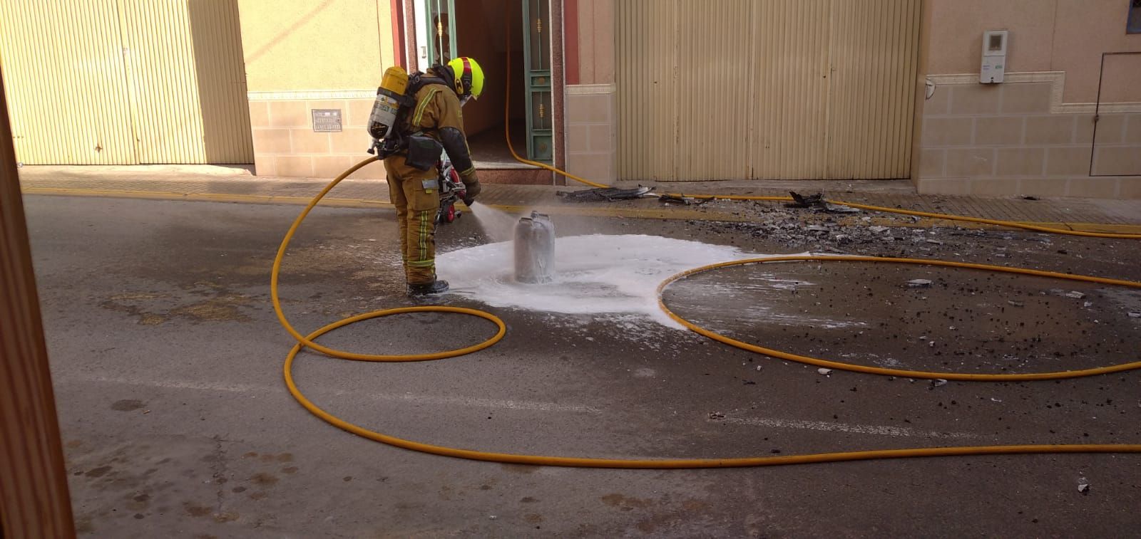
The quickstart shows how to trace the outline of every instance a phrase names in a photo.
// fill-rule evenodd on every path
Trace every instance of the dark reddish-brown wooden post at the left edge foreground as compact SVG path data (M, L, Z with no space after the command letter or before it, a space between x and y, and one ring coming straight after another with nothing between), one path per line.
M67 471L0 76L0 536L73 538Z

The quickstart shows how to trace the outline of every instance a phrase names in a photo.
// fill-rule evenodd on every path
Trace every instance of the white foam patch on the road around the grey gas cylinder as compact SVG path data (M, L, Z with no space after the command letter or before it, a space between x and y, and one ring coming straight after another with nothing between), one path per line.
M625 313L681 326L657 305L657 285L699 266L759 258L737 247L644 235L560 237L555 280L516 283L511 242L468 247L437 256L439 277L491 307L566 315Z

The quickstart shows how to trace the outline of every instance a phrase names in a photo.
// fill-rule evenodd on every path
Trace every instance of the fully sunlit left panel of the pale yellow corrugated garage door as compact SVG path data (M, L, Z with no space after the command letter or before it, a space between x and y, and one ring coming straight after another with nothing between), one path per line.
M0 63L21 162L138 162L113 1L0 1Z

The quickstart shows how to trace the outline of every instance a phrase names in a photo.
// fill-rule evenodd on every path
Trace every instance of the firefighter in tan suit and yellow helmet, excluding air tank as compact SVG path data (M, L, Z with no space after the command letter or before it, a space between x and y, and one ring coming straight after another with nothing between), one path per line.
M439 147L467 187L463 202L479 195L479 178L463 133L460 108L484 90L484 71L471 58L455 58L424 74L415 106L400 126L408 148L385 158L388 188L400 224L400 253L408 295L442 294L447 281L436 278L436 210L439 206Z

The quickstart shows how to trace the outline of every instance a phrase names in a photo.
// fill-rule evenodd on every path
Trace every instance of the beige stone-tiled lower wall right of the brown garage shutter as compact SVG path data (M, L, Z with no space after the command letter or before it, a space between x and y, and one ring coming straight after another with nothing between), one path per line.
M1141 107L1110 105L1094 134L1092 106L1060 105L1059 84L939 84L922 105L917 190L1141 198Z

